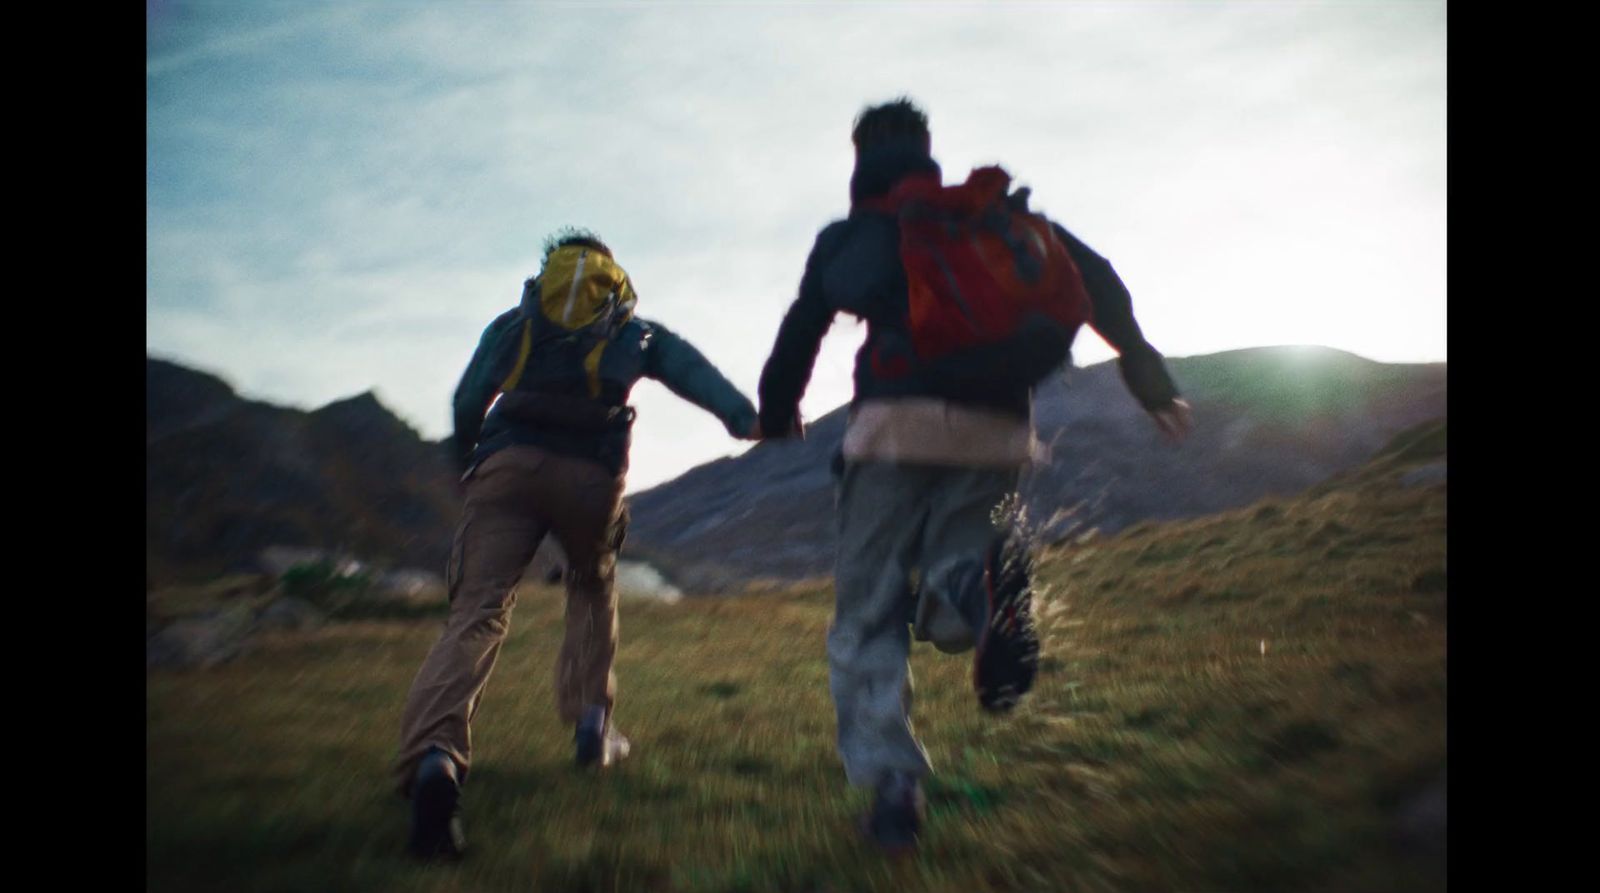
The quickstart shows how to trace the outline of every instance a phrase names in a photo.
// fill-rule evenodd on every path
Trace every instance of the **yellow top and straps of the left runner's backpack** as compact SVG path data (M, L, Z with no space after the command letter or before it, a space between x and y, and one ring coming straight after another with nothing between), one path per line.
M600 395L600 355L622 325L634 318L638 294L605 251L584 245L557 248L538 278L523 290L522 344L501 390L512 390L528 368L536 344L570 352L578 347L589 379L589 395ZM538 310L534 310L534 306Z

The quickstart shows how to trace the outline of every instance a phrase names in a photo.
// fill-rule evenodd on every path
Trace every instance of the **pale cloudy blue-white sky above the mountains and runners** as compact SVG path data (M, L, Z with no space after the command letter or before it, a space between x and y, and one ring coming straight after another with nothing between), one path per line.
M1443 2L147 0L146 344L245 397L362 390L429 438L544 237L752 400L850 126L910 96L946 181L1000 163L1173 357L1445 360ZM803 411L850 398L835 322ZM1091 333L1088 365L1114 354ZM629 490L744 443L634 390Z

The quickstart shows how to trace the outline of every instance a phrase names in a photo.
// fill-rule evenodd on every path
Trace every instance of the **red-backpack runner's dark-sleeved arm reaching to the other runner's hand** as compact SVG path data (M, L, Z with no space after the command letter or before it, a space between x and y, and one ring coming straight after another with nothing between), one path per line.
M822 293L822 267L843 237L843 226L830 224L818 234L800 277L800 294L784 314L773 352L762 368L758 394L762 432L766 437L784 437L800 424L800 398L811 382L811 366L816 365L822 336L834 325L834 309Z

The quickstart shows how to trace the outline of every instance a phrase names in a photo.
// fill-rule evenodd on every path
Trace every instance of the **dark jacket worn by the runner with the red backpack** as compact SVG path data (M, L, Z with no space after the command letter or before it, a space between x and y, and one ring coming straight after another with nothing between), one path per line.
M1014 373L1021 366L1021 378L1043 378L1050 371L1048 365L1061 355L1058 330L1040 326L1003 346L966 350L938 363L910 363L899 222L858 203L888 194L901 178L912 173L939 173L939 165L914 142L883 146L856 158L856 170L850 178L850 216L818 234L800 278L800 294L784 315L773 352L762 370L763 430L776 434L794 427L816 352L838 312L867 323L867 339L856 354L853 405L875 397L939 397L1029 416L1030 389L989 381L982 370L1010 368ZM1139 331L1139 323L1133 318L1133 301L1117 270L1059 224L1056 235L1083 274L1094 306L1091 326L1117 349L1128 389L1147 410L1168 405L1178 397L1178 387L1168 376L1162 355ZM1066 347L1070 349L1070 344ZM910 371L904 371L907 368ZM886 370L894 370L894 374L886 374ZM1006 381L1014 378L1018 376L1008 374Z

